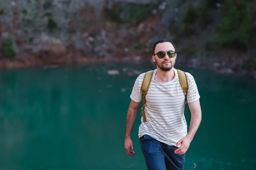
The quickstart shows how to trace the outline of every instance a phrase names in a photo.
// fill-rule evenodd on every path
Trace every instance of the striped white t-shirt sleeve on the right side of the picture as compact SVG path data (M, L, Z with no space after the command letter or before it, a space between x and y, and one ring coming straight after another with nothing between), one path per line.
M186 72L186 75L187 75L188 85L189 85L189 88L187 91L187 102L192 103L194 101L199 100L200 95L199 95L198 88L195 83L194 77L190 73L187 73L187 72Z

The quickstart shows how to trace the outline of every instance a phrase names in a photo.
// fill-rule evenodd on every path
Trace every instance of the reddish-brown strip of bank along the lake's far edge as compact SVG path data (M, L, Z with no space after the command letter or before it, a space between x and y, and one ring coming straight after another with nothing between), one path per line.
M95 64L95 63L148 63L150 64L151 58L143 57L142 55L126 55L133 57L105 57L105 58L88 58L83 56L67 55L65 57L57 57L51 59L41 59L35 57L27 58L1 58L0 59L0 70L15 70L15 69L26 69L26 68L52 68L58 66L71 66L76 64ZM176 64L184 66L189 69L202 69L216 72L217 74L223 75L247 75L256 79L256 70L240 69L238 71L222 66L217 61L201 60L198 61L196 58L192 58L189 61L177 60Z

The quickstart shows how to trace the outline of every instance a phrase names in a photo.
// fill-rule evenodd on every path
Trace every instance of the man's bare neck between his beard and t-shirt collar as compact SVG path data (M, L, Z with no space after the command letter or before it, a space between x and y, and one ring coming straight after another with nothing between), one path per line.
M165 83L168 81L172 81L174 77L175 77L175 72L173 67L168 72L162 71L161 69L157 68L157 72L154 79L157 82Z

